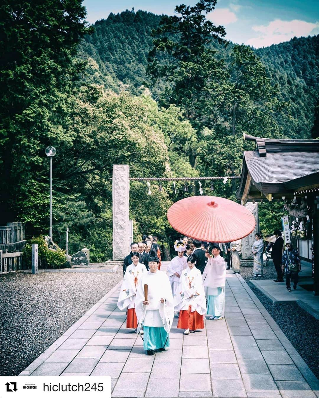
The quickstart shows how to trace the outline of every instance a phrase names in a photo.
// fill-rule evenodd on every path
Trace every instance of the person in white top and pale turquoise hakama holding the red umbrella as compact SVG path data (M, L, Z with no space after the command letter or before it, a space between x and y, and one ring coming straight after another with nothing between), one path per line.
M223 319L225 307L226 267L223 257L219 255L221 248L214 245L213 258L209 260L203 272L203 284L207 298L207 315L214 321Z

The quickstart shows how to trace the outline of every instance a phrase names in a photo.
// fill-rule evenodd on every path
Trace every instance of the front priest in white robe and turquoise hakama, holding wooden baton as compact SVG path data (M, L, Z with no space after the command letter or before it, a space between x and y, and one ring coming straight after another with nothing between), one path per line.
M171 285L165 272L158 270L158 263L156 252L151 251L150 271L143 274L135 300L137 332L144 329L144 349L148 355L154 355L156 349L165 351L169 347L169 330L174 318Z

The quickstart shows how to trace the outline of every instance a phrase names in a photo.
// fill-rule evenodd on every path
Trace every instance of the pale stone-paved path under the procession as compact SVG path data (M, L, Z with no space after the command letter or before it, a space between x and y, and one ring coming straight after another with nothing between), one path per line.
M126 329L116 286L20 375L110 375L112 397L319 397L319 380L242 277L227 272L224 320L184 336L175 316L165 352L147 356Z

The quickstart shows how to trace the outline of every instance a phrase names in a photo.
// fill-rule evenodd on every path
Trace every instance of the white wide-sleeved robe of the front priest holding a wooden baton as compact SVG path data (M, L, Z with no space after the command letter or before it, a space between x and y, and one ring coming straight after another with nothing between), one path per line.
M149 305L144 305L144 285L148 285ZM164 302L161 303L160 299ZM143 326L164 328L168 333L174 318L173 295L171 284L165 272L157 270L148 271L143 275L142 283L138 285L135 298L135 312L138 319L137 332Z

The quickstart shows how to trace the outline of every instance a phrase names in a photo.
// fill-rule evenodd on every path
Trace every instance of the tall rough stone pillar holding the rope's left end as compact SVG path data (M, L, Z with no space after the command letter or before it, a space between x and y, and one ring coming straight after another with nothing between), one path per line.
M130 168L113 165L113 260L123 260L130 252Z

